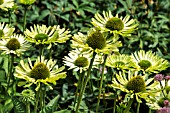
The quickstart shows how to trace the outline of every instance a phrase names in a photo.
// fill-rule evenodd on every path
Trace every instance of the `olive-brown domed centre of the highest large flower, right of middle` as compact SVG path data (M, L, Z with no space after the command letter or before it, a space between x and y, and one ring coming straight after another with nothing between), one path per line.
M124 23L120 18L112 17L106 22L105 27L110 30L118 30L119 31L124 28Z

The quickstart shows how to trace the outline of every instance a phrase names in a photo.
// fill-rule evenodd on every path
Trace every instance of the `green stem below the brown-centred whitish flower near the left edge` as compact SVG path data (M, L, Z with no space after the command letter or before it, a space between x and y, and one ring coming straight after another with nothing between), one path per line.
M7 91L9 89L11 79L13 80L12 82L14 82L14 77L12 76L13 75L14 54L10 54L9 58L11 58L11 59L9 59L10 65L8 68L9 70L8 70L8 79L7 79Z

